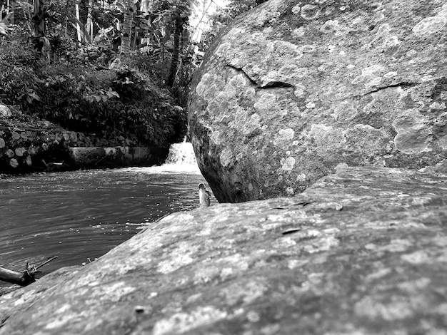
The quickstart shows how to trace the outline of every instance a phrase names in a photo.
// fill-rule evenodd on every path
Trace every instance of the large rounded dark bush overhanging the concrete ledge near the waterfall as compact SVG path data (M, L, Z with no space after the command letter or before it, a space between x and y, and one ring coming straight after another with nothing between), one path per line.
M174 105L169 91L136 70L66 67L46 71L34 113L66 128L144 145L166 145L179 131L178 120L186 124L184 111Z

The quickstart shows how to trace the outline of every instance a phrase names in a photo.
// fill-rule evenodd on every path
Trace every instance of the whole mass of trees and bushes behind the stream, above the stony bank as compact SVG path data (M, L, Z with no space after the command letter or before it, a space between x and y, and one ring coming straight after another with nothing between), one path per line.
M215 21L263 1L230 1ZM0 103L134 144L181 138L199 62L188 29L195 4L0 0Z

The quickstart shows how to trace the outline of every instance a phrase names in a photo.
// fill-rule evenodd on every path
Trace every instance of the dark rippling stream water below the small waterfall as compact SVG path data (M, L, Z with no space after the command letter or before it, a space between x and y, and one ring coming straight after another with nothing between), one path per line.
M150 222L198 205L196 168L86 170L0 180L0 267L42 275L109 252ZM3 285L0 282L0 286Z

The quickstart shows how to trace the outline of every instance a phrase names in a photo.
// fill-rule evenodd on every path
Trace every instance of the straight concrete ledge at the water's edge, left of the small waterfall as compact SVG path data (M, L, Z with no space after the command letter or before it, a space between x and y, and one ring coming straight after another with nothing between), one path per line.
M111 147L69 148L76 168L115 168L120 166L150 166L164 163L169 148Z

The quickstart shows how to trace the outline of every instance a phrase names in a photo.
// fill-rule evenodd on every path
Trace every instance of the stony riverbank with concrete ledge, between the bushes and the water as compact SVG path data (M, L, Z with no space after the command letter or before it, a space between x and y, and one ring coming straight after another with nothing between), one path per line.
M159 165L168 153L169 145L141 147L122 136L100 138L19 111L0 116L0 173L4 174Z

